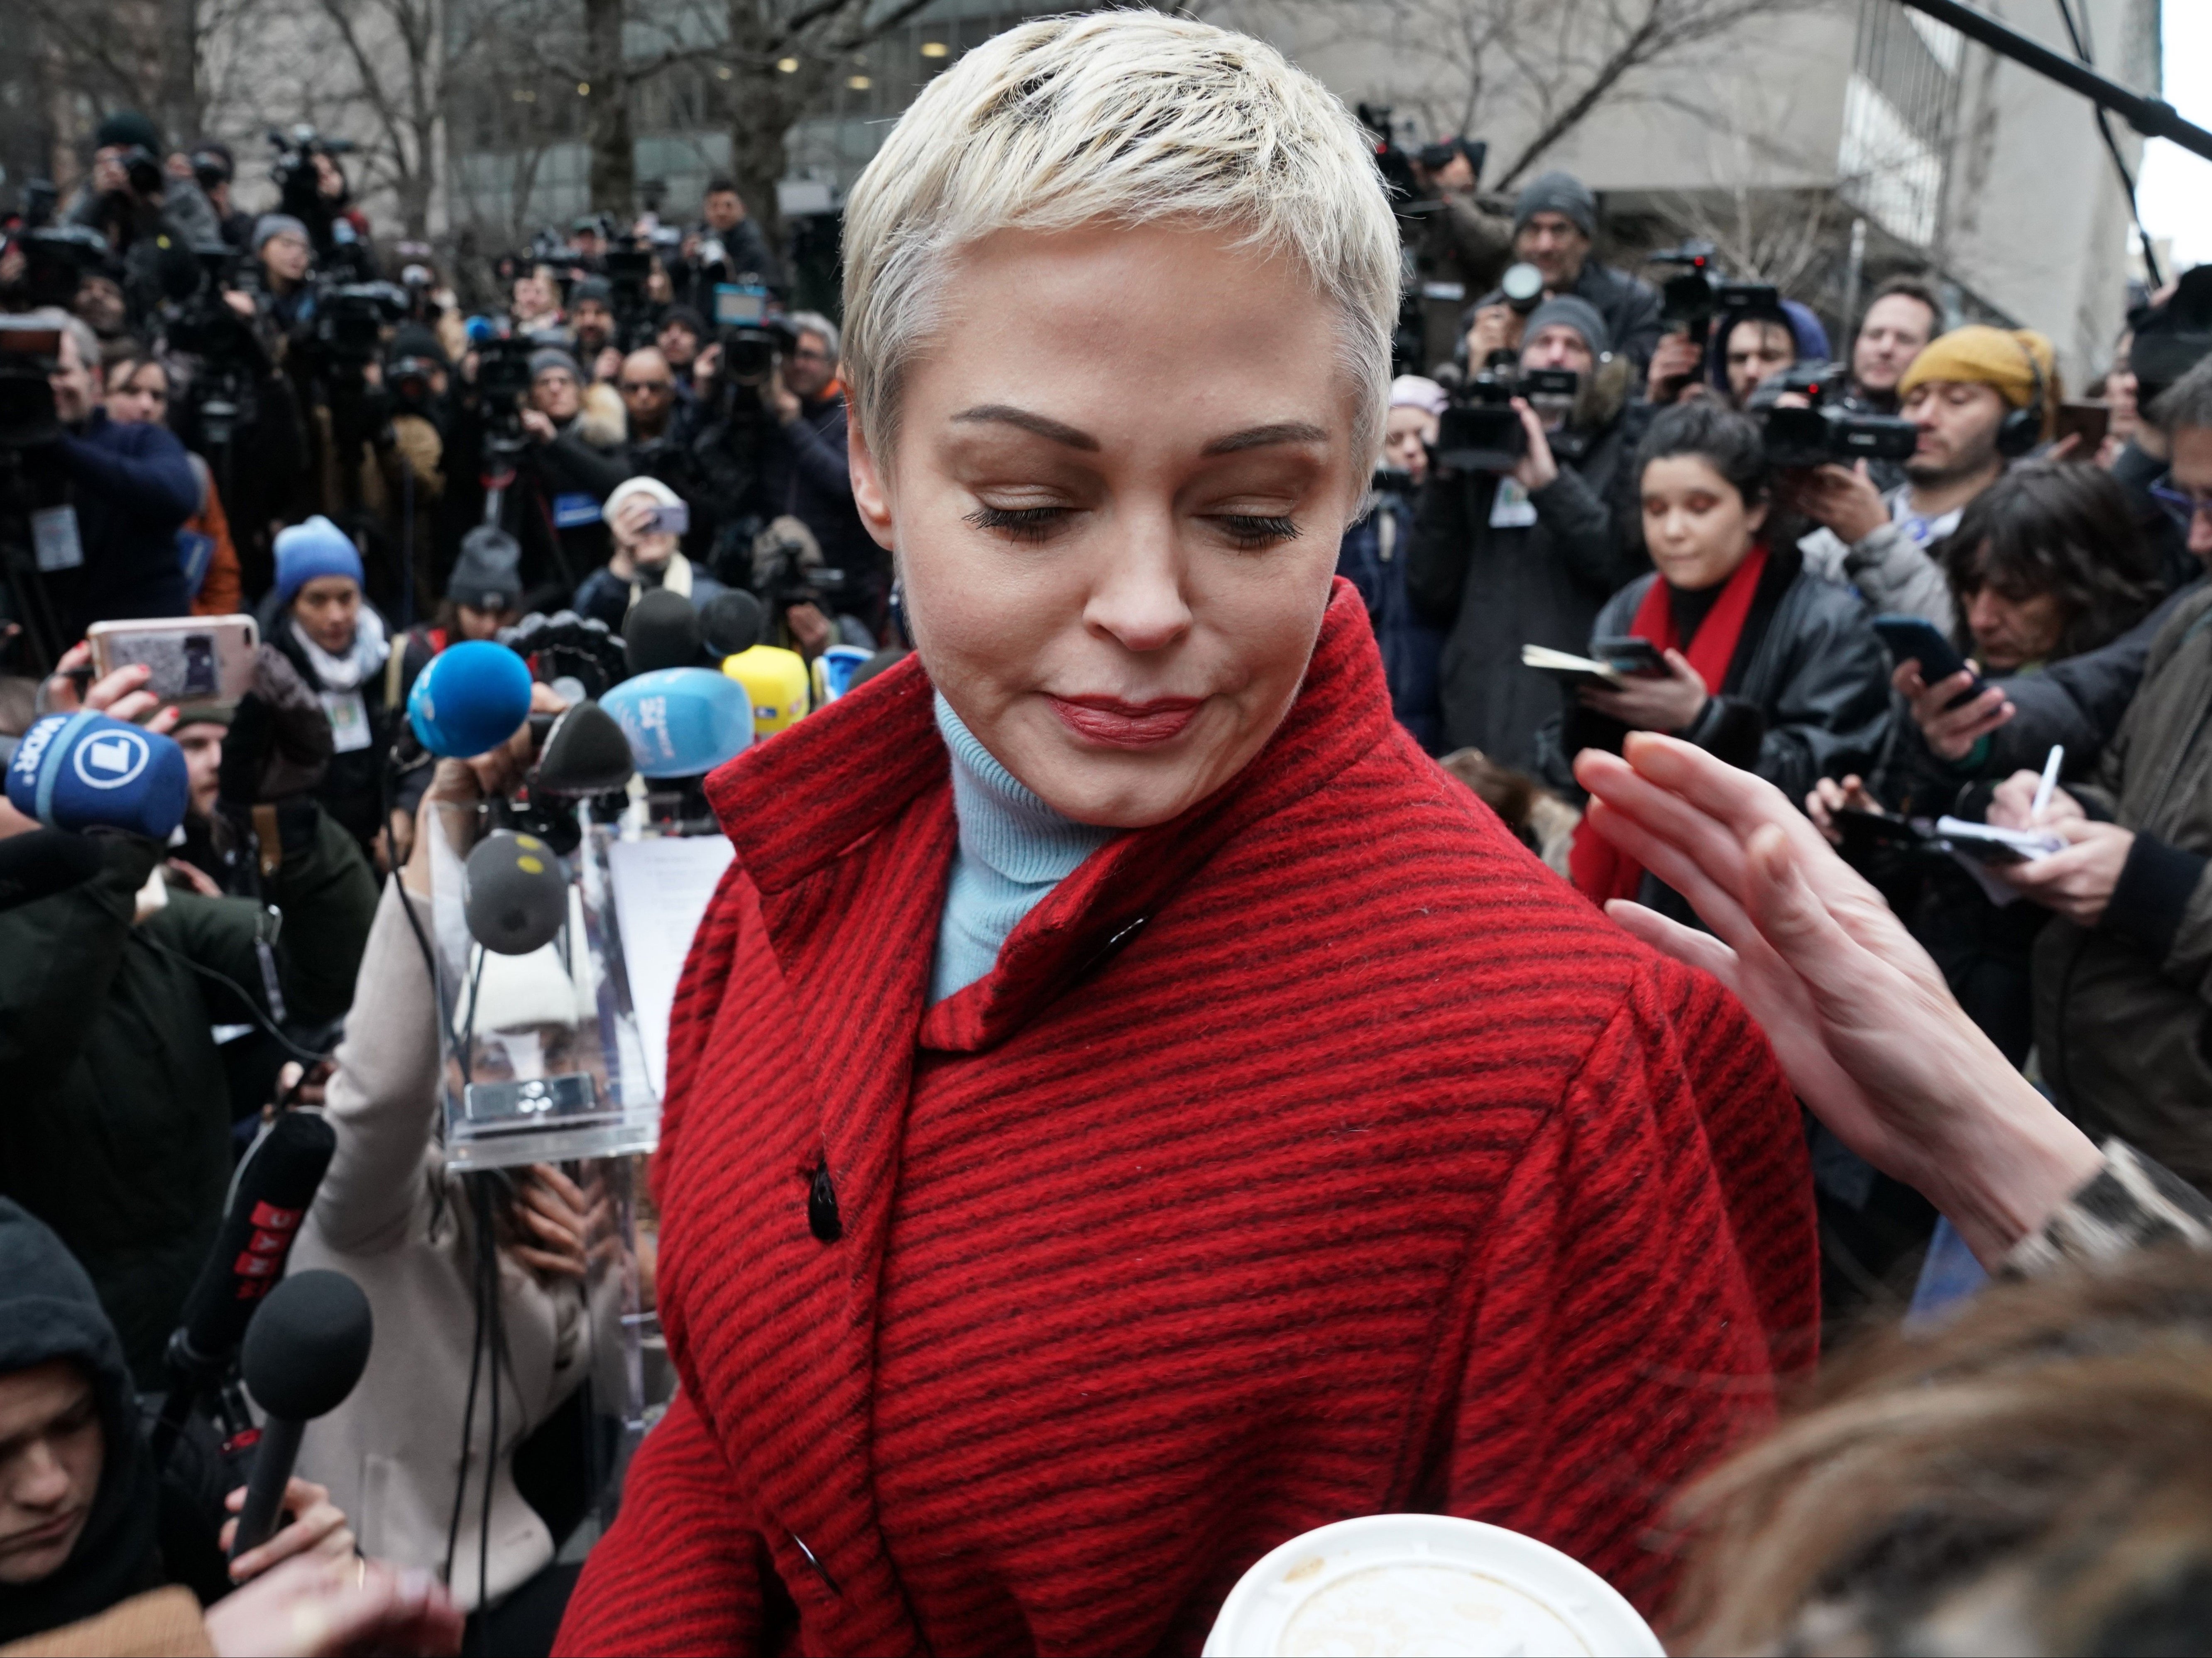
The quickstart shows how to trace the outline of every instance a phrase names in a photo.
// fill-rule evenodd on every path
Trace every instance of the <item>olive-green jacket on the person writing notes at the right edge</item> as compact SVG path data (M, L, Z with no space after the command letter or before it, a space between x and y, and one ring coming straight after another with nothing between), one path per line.
M2084 807L2135 829L2104 920L2035 942L2059 1108L2212 1189L2212 592L2174 606Z

